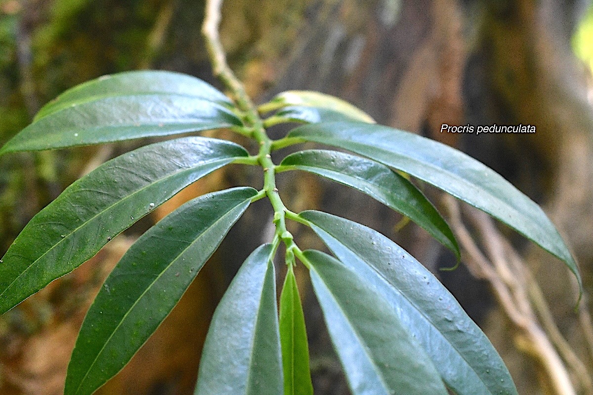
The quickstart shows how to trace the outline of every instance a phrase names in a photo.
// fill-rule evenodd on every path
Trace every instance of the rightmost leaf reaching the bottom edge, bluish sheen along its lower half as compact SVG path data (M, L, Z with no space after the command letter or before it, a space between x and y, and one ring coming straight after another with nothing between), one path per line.
M403 325L457 394L517 395L492 343L413 256L361 224L319 211L299 215L311 223L340 261L397 311Z

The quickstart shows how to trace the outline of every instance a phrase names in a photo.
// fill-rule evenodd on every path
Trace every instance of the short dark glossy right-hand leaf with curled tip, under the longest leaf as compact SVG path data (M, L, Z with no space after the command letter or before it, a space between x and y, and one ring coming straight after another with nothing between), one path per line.
M412 182L387 166L342 152L306 150L286 156L276 171L293 169L321 175L364 192L415 221L460 258L457 240L441 214Z

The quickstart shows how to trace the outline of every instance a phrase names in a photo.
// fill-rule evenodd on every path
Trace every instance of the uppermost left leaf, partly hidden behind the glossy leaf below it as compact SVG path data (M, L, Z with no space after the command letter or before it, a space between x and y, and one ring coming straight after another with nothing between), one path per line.
M93 79L68 89L39 110L35 121L85 102L116 96L174 94L230 105L221 91L199 78L161 70L130 71Z

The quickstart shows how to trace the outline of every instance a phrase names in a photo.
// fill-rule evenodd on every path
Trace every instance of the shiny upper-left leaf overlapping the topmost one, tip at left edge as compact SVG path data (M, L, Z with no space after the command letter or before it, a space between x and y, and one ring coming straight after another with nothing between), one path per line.
M0 155L238 125L241 121L227 108L185 95L104 97L72 104L40 118L12 137L0 149Z

